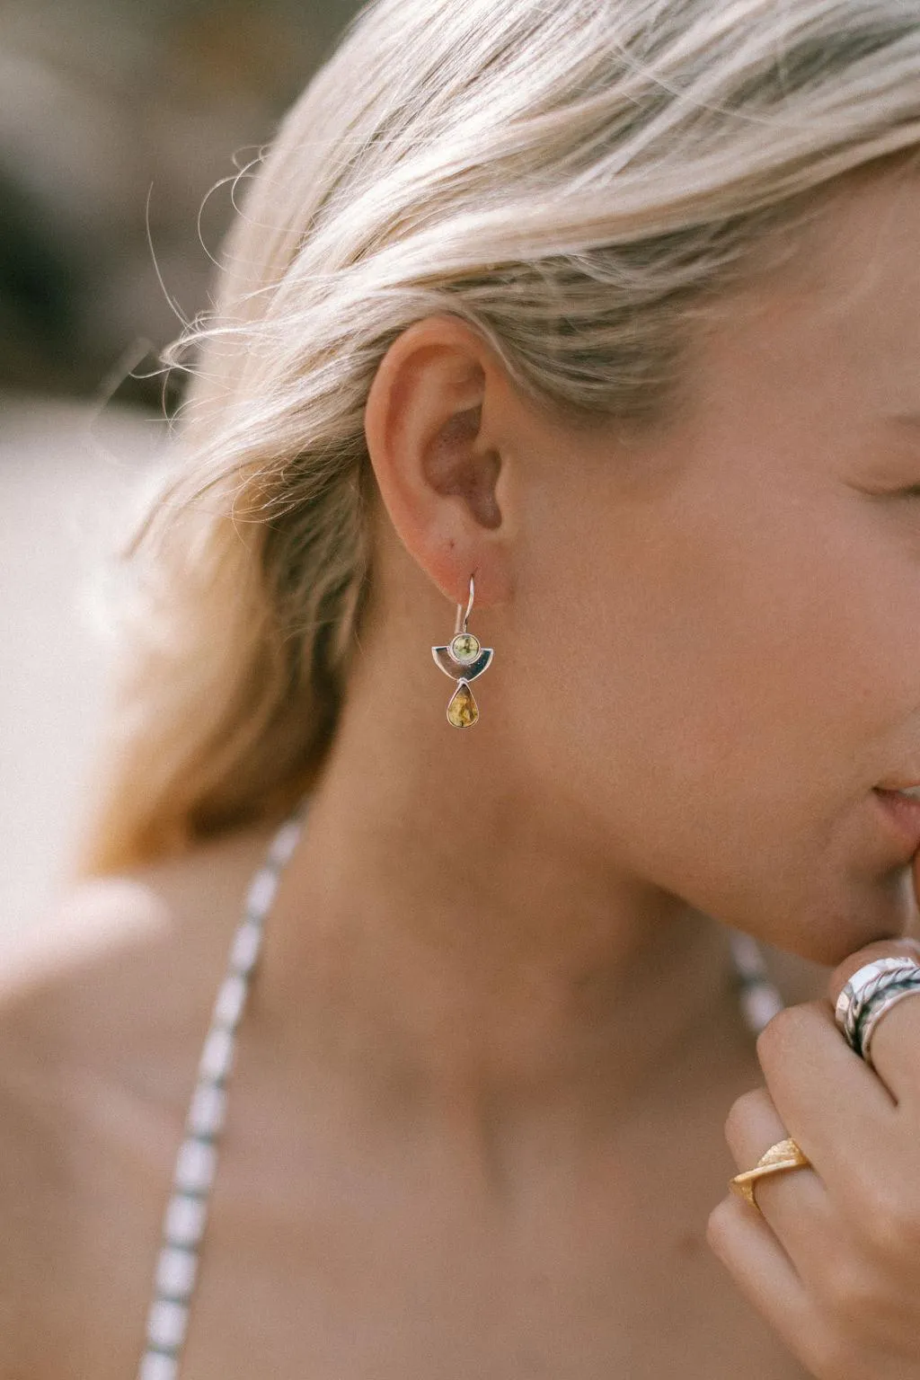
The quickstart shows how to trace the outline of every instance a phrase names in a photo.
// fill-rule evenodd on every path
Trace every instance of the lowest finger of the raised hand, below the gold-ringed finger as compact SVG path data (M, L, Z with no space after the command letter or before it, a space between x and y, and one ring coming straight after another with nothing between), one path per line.
M808 1340L819 1319L794 1265L767 1224L738 1198L724 1198L710 1213L706 1241L757 1312L808 1368Z

